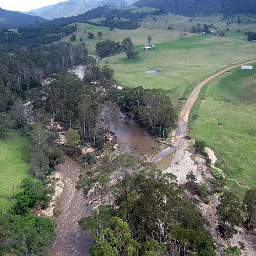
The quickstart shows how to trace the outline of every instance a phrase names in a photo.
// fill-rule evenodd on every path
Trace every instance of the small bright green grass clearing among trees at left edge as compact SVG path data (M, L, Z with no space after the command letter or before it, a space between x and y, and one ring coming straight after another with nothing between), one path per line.
M15 193L19 193L19 181L22 180L29 169L28 139L18 131L11 131L7 140L0 140L0 206L5 210L11 203L3 195L12 196L12 184L15 185Z

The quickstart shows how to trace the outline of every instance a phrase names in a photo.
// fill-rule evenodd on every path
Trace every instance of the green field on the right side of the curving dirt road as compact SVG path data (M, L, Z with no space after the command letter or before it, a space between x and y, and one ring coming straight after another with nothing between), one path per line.
M252 64L256 66L256 62ZM189 116L189 135L205 140L224 159L229 178L256 187L256 75L237 68L206 84ZM246 188L228 180L243 198Z

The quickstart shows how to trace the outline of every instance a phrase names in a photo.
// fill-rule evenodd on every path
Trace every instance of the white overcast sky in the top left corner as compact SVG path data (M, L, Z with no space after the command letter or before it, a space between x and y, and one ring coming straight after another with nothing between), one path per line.
M30 11L66 0L0 0L0 7L9 11Z

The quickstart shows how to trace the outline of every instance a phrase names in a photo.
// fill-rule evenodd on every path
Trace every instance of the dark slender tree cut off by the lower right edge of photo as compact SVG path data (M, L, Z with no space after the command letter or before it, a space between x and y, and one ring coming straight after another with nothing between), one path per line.
M243 208L248 213L245 223L246 227L249 229L252 216L256 211L256 189L250 188L246 191L243 201Z

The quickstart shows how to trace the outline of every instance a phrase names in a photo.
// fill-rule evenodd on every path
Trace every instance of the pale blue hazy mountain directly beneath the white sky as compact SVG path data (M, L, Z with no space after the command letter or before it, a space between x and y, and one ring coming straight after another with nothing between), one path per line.
M98 6L127 6L134 0L69 0L56 5L42 7L26 12L26 14L37 15L46 19L76 16Z

